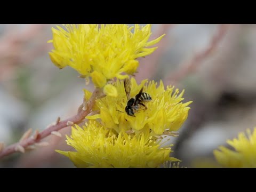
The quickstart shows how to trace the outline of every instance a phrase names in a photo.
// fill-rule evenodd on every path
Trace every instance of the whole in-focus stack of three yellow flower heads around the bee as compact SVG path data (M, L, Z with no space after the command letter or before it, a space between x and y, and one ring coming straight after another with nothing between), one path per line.
M173 131L187 119L191 102L181 102L184 92L165 88L162 81L157 85L144 80L138 85L134 78L130 80L129 95L124 87L124 79L137 71L136 59L153 53L157 47L147 47L164 35L148 42L151 25L63 26L52 29L52 62L59 68L70 66L82 77L91 77L107 96L97 99L92 110L99 114L86 117L89 123L72 127L67 144L76 151L57 152L69 157L77 167L159 167L166 161L179 161L170 157L172 145L163 145L170 140L165 139L167 135L176 135ZM135 116L129 116L127 101L142 87L151 100L144 107L133 106ZM86 100L92 95L87 90L84 94Z

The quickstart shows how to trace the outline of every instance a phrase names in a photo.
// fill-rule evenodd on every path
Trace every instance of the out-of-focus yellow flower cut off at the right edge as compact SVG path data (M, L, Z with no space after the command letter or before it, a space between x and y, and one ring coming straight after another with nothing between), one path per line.
M256 127L253 133L249 129L245 133L239 133L237 139L227 140L227 143L235 150L220 146L214 150L214 156L218 163L224 167L256 167Z

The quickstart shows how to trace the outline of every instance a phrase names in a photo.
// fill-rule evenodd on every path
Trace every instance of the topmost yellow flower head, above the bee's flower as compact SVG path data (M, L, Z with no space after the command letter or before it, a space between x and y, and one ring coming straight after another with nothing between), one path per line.
M52 28L54 50L52 62L59 68L70 66L83 77L92 76L95 86L102 87L106 81L117 77L124 79L139 66L135 59L153 53L164 35L149 41L151 25L129 27L117 25L63 25ZM134 30L132 31L132 29ZM65 30L66 29L66 30ZM93 71L97 71L93 74Z

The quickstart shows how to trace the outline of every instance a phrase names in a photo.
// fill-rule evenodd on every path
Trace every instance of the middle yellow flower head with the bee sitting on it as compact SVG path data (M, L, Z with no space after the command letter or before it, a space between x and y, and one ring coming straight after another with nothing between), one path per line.
M135 117L125 113L127 98L124 89L124 82L117 80L113 83L118 92L118 97L106 96L96 101L100 110L100 115L88 116L88 119L101 118L104 126L108 129L114 129L115 133L122 131L145 132L150 130L151 135L172 135L172 131L180 129L186 121L191 103L182 103L184 91L179 94L179 90L167 86L161 81L157 86L154 81L143 80L138 85L134 78L131 78L131 98L139 93L141 87L152 98L151 101L145 102L147 109L140 107L135 111Z

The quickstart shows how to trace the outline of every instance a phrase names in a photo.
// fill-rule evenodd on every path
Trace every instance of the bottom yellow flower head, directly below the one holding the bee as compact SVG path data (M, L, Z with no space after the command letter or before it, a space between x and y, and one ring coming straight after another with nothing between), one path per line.
M100 123L90 121L83 128L72 127L67 144L76 151L60 151L77 167L159 167L166 161L179 161L170 157L170 146L162 147L149 134L131 137L125 132L118 135Z

